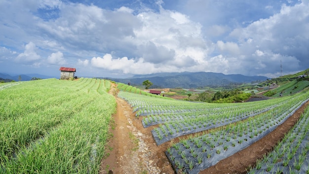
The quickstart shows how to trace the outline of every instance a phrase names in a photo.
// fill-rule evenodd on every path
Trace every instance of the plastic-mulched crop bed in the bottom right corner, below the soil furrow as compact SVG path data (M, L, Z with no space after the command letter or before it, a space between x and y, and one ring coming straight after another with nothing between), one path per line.
M309 109L248 174L309 174Z

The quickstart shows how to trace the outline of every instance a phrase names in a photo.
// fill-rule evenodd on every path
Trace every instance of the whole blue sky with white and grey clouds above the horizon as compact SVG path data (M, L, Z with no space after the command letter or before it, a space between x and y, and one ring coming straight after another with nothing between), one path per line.
M125 78L309 68L309 0L0 0L0 73Z

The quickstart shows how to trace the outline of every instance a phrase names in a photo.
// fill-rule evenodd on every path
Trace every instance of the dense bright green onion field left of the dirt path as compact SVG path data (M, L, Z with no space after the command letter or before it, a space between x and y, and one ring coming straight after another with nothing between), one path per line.
M1 174L97 174L116 100L80 78L0 86Z

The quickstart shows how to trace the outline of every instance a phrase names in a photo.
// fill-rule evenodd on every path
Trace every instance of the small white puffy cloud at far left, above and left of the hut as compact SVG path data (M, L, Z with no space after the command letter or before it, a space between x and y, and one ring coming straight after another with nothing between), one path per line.
M15 60L18 62L37 61L40 59L40 56L37 54L36 50L37 50L36 44L30 42L29 44L26 44L25 51L23 53L20 53Z

